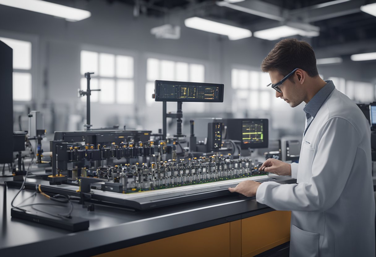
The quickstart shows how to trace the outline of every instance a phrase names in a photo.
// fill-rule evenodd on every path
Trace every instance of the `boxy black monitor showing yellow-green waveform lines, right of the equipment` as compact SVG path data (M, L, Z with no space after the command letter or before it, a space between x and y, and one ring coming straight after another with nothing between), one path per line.
M241 149L268 147L268 119L223 119L223 123L225 139L240 141Z

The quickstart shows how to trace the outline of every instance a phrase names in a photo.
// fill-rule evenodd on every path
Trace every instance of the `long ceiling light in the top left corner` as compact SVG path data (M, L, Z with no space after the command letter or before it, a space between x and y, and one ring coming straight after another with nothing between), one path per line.
M0 0L0 5L11 6L28 11L49 14L67 21L80 21L91 16L89 11L50 3L42 0Z

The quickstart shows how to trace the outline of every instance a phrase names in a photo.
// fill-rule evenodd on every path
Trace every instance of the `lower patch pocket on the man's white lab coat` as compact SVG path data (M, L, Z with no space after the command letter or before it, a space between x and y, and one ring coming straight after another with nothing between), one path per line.
M291 225L290 256L316 257L318 256L318 239L320 234L301 230Z

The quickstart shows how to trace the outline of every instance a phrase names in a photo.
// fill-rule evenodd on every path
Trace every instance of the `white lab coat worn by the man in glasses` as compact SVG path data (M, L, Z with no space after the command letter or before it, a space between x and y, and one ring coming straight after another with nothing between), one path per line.
M262 183L259 203L291 210L291 257L375 256L370 127L334 89L302 140L297 184Z

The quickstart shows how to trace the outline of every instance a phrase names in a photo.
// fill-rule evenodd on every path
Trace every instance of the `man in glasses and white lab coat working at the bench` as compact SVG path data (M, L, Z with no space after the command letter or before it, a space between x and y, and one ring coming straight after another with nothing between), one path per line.
M278 42L263 60L276 97L306 103L298 163L266 160L260 169L291 175L297 184L247 180L231 192L255 196L276 210L291 210L290 256L375 256L375 202L370 127L361 110L318 76L312 47Z

